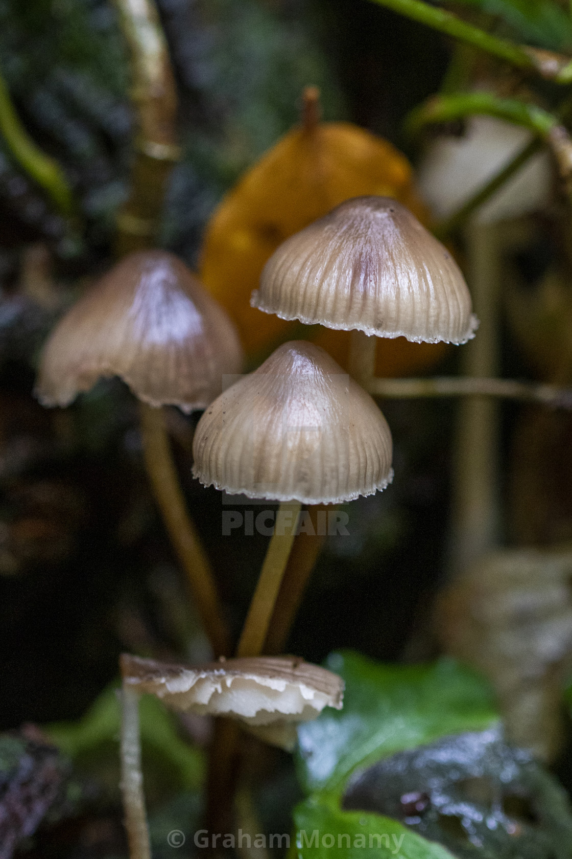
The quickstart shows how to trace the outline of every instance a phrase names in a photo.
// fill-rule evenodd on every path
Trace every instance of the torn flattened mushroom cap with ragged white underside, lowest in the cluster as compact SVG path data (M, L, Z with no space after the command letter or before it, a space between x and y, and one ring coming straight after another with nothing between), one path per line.
M196 667L121 656L123 682L173 710L230 716L262 739L292 747L297 722L341 710L344 681L294 656L227 659ZM288 725L290 729L288 729Z

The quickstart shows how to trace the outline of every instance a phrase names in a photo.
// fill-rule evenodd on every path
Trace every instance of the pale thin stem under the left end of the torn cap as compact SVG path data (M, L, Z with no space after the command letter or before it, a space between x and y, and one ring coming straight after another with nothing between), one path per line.
M121 702L121 793L129 859L151 859L141 772L139 696L126 683L123 683Z

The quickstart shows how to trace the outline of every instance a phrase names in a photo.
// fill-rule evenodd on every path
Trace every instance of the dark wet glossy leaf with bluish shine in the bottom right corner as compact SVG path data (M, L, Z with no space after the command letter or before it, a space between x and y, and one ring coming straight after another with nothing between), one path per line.
M350 777L345 809L400 820L470 859L569 859L569 799L502 729L443 737L383 758Z

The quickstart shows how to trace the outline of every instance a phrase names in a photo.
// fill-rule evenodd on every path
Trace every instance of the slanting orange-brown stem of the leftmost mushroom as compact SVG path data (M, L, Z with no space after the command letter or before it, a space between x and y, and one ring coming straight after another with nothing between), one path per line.
M140 403L145 465L166 529L190 583L190 589L214 655L227 655L230 639L220 611L213 573L195 526L190 521L172 460L161 409Z

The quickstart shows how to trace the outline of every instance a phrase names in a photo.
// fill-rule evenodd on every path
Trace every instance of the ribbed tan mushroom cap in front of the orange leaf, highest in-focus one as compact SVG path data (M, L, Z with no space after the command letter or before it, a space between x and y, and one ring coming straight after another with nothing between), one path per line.
M281 319L461 344L477 320L455 259L388 197L347 200L285 241L250 303Z

